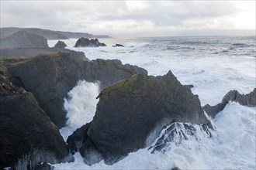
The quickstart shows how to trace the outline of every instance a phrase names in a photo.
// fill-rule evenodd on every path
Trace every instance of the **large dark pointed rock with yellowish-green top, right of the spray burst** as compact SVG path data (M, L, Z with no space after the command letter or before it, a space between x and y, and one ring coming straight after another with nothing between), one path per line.
M99 162L101 156L112 165L131 151L151 145L164 125L173 122L209 124L198 96L171 71L157 77L137 74L102 90L79 151L88 165ZM87 159L91 157L95 159Z

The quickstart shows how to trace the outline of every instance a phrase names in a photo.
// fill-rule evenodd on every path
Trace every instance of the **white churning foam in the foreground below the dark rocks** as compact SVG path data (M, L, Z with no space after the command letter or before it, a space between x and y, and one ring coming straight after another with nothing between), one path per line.
M256 107L244 107L235 102L213 120L213 137L195 125L196 134L179 145L169 144L165 153L151 154L148 148L130 153L114 165L104 162L88 166L81 155L74 155L75 162L54 165L56 169L255 169ZM189 134L186 134L189 136Z

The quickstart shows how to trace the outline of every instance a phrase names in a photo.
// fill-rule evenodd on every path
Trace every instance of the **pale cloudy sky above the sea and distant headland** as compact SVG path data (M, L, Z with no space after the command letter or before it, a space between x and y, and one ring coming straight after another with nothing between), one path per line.
M1 27L114 37L255 35L255 1L1 2Z

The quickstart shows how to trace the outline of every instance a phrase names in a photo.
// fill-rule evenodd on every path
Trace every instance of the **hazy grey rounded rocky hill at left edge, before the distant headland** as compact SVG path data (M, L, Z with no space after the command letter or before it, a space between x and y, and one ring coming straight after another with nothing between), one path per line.
M0 49L14 48L49 48L47 39L25 31L19 31L12 36L1 39Z

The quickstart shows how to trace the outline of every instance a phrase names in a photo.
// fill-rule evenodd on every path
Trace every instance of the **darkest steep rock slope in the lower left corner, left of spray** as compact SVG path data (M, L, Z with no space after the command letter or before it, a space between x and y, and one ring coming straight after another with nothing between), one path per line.
M0 168L71 161L57 127L32 93L0 75Z

